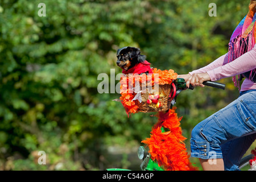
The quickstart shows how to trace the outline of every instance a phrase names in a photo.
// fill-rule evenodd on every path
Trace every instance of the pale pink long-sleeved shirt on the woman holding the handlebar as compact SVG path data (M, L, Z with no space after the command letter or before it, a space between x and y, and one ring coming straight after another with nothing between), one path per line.
M211 81L220 80L221 78L232 77L240 75L247 71L251 71L256 68L256 44L251 51L244 53L242 56L228 63L228 53L219 57L206 67L197 69L189 72L190 75L193 73L205 73L207 72L210 76ZM256 83L245 78L241 85L240 91L256 89Z

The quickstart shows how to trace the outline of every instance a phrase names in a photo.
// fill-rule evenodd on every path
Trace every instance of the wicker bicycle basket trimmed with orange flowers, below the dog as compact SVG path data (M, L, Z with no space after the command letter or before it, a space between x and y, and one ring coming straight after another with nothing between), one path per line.
M129 74L121 78L120 100L126 113L143 113L170 109L173 93L176 89L174 81L177 73L173 70L160 71L154 69L151 75Z

